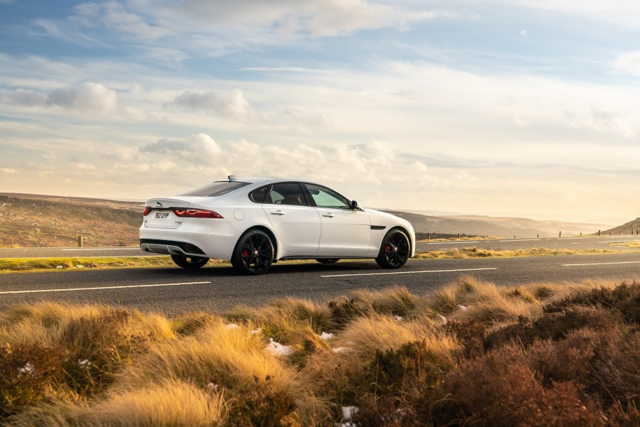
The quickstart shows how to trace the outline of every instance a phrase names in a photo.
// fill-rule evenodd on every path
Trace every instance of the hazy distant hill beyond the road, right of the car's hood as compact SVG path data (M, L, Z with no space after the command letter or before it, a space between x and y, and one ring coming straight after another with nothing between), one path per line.
M385 211L411 222L416 232L436 234L468 234L500 237L557 237L597 233L609 225L563 221L536 221L529 218L456 215L435 217L409 212Z

